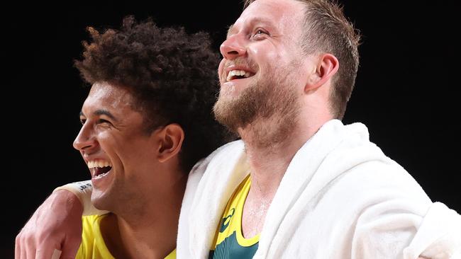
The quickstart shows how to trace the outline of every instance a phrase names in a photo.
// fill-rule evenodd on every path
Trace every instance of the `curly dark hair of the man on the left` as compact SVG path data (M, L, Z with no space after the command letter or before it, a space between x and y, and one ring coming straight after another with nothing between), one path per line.
M181 125L184 172L235 138L211 113L219 91L219 58L207 33L159 28L152 18L138 23L133 16L123 19L120 30L87 30L93 42L83 42L83 59L74 62L82 78L128 88L147 134L170 123Z

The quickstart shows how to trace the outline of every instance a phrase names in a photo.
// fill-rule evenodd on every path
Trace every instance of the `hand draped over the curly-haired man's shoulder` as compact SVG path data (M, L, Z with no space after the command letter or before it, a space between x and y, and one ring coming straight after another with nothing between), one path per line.
M57 190L35 211L16 236L15 259L75 258L82 242L83 206L67 190Z

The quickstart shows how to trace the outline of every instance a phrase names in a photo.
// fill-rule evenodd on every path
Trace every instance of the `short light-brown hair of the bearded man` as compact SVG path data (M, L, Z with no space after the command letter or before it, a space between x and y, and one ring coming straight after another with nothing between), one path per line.
M245 0L244 9L256 0ZM334 0L296 0L306 5L302 46L306 54L328 52L340 63L333 76L330 109L342 119L354 88L359 67L360 33L345 18L343 7Z

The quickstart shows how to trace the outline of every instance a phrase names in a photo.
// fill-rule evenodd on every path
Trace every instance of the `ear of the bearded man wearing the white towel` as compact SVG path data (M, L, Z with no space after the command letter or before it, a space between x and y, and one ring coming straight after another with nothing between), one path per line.
M339 62L333 54L322 54L316 60L316 67L313 67L313 72L309 74L309 79L307 80L306 86L304 86L304 92L323 86L323 84L338 72Z

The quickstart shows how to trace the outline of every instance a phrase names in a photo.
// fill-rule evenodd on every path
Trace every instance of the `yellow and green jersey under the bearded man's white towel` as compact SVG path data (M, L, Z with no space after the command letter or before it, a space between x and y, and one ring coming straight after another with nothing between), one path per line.
M250 191L251 178L248 175L235 189L224 209L223 219L216 230L209 258L252 258L257 251L260 234L244 238L242 234L243 205Z

